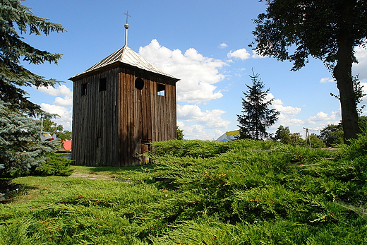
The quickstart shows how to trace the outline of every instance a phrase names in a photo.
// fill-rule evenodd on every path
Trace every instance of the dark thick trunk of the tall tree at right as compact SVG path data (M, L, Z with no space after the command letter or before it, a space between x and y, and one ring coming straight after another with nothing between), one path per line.
M342 123L346 141L356 138L357 133L359 133L356 93L354 92L353 78L351 76L354 43L349 30L353 21L355 4L356 0L346 0L340 6L341 28L338 34L337 65L334 68L334 77L337 80L340 104L342 106Z

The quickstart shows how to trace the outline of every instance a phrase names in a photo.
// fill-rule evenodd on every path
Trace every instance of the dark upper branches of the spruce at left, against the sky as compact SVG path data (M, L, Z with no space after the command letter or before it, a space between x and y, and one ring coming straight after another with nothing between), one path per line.
M43 64L45 61L57 64L61 54L41 51L23 41L21 35L49 35L50 32L64 32L60 24L51 23L46 18L33 15L29 7L20 0L0 0L0 100L9 103L11 109L29 116L43 114L39 105L28 100L27 92L20 86L55 85L54 79L45 79L21 65Z

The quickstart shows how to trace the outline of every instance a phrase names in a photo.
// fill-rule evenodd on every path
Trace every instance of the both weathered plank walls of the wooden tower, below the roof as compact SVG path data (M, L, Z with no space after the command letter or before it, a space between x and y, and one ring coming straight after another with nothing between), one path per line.
M99 91L100 78L107 90ZM144 87L135 87L137 78ZM73 78L73 159L77 165L140 164L142 143L176 138L176 80L139 68L109 66ZM88 83L87 95L81 95ZM165 95L157 95L157 84Z

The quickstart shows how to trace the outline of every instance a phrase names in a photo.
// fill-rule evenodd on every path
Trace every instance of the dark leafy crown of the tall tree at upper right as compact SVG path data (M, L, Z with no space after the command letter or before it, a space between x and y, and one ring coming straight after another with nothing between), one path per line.
M346 8L352 8L351 12L343 11ZM281 61L293 61L293 70L305 66L308 56L333 63L341 58L337 56L340 40L347 38L352 48L365 41L367 28L363 22L367 17L363 13L366 8L364 1L305 3L267 0L266 13L260 13L254 20L256 49L260 54L275 56ZM343 23L346 18L353 18L354 21ZM345 32L335 35L344 28L347 28ZM349 55L353 56L354 53Z

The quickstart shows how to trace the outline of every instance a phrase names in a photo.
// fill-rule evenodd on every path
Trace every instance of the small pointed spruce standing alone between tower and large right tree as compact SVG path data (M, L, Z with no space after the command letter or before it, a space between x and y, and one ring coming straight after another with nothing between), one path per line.
M248 92L243 92L245 98L242 98L242 113L237 115L239 121L239 138L251 138L254 140L265 140L269 133L266 129L275 124L279 112L275 109L269 109L273 100L267 100L269 89L263 91L264 84L258 78L258 74L253 73L250 76L253 85L246 85Z

